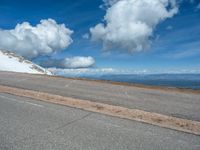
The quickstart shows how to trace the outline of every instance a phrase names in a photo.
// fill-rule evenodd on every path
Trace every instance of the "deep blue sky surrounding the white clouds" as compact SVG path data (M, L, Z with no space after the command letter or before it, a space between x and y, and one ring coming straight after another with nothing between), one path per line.
M151 46L139 52L111 50L83 38L90 28L102 22L106 8L102 0L1 0L0 28L10 30L24 21L36 25L41 19L52 18L73 30L73 43L62 51L41 55L33 60L64 59L91 56L97 68L136 70L198 70L200 68L200 1L179 1L179 11L157 24ZM116 49L116 48L115 48ZM42 64L42 63L41 63ZM199 69L200 70L200 69Z

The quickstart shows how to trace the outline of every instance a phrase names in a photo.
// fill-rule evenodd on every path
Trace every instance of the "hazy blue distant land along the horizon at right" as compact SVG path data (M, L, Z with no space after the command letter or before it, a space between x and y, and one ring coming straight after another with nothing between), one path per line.
M96 79L153 86L200 89L200 74L118 74L102 75L96 77Z

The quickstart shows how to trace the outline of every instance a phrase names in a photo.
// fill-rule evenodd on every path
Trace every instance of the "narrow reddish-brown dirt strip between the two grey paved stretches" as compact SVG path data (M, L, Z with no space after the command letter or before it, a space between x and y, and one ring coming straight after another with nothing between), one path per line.
M200 135L200 122L198 121L8 86L0 85L0 92Z

